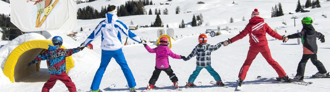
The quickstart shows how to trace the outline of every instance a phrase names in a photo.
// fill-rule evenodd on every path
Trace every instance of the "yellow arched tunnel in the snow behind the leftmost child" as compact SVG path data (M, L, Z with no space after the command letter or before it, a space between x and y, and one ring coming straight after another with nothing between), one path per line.
M32 40L24 42L17 46L8 56L3 73L9 77L11 82L17 82L29 75L40 71L39 64L27 66L34 58L48 49L48 45L52 45L50 40ZM61 47L64 48L65 47ZM66 72L74 67L72 56L66 58Z

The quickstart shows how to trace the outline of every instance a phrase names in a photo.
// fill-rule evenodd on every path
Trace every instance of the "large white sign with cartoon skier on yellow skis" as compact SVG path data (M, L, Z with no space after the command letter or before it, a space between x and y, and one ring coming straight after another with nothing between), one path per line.
M74 0L12 0L11 22L23 32L60 30L68 34L77 26Z

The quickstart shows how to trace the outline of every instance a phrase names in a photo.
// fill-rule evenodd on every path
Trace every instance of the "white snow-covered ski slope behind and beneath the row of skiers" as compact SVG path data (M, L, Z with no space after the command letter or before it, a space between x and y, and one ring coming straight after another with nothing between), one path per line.
M91 5L96 9L101 9L101 6L106 6L108 4L114 4L116 6L125 3L127 0L97 0L89 3L78 4L78 8ZM155 5L146 6L146 9L151 9L154 11L155 8L163 10L165 8L169 9L169 15L161 15L161 19L164 24L169 24L170 28L176 30L176 35L179 36L179 40L172 42L172 51L178 55L187 56L191 53L194 46L198 44L197 38L200 33L205 33L206 29L216 29L217 26L224 28L229 26L231 33L224 33L219 36L211 37L208 35L208 43L216 44L218 42L224 41L228 38L234 37L243 30L248 21L241 21L242 17L249 18L251 12L254 8L257 8L261 14L261 17L266 18L265 22L270 25L272 29L277 29L280 35L291 35L296 33L297 30L301 30L302 25L300 23L301 18L305 16L311 16L314 18L314 27L316 31L325 35L325 43L318 44L318 59L324 64L326 69L330 69L330 62L327 60L330 57L327 57L330 51L329 36L330 36L330 19L324 18L321 16L322 12L330 13L330 2L321 2L321 8L312 9L311 12L307 13L294 13L294 14L285 14L280 17L270 17L270 10L275 4L281 2L283 5L284 13L294 12L296 7L296 0L235 0L237 5L231 4L232 0L173 0L169 2L171 5L159 5L160 2L165 2L167 0L153 0ZM197 1L203 1L206 4L196 4ZM301 3L304 4L305 0L301 0ZM157 5L158 4L158 5ZM182 12L180 14L175 14L175 7L180 6ZM192 11L191 13L183 13L186 11ZM154 12L153 12L154 13ZM189 27L179 29L177 26L181 23L181 20L184 19L186 23L192 20L193 14L202 13L204 16L205 23L201 27ZM291 19L292 16L298 16L296 19L296 27L294 27L294 21ZM156 15L135 15L135 16L125 16L119 17L121 21L125 24L129 24L133 20L134 24L137 25L150 25L154 21ZM230 17L234 18L234 23L229 23ZM93 30L96 25L103 19L93 19L93 20L78 20L78 26L75 31L79 31L80 28L83 28L83 32L79 33L78 42L66 42L66 45L70 47L79 46L79 43L82 43L86 37L90 34L89 29ZM283 21L286 21L287 25L282 24ZM234 29L236 28L236 29ZM159 28L139 28L132 32L136 33L138 36L143 39L157 39L156 30ZM165 30L167 28L164 28ZM287 33L285 33L287 31ZM50 32L51 35L57 35L58 33ZM181 37L181 35L183 37ZM64 35L61 35L64 36ZM126 37L122 37L125 39ZM282 43L282 41L274 40L271 36L267 35L269 47L273 58L279 62L283 67L287 75L291 78L291 74L296 73L298 63L302 57L302 45L297 44L296 39L290 39L287 43ZM129 43L133 43L132 40L128 40ZM74 55L75 66L69 72L69 76L75 82L78 89L83 91L88 91L91 85L92 79L95 75L95 72L100 63L100 43L101 37L96 38L92 44L94 45L94 50L92 50L92 57L88 57L91 53L89 50L79 52L77 55ZM151 48L155 46L149 44ZM229 88L218 87L213 84L210 84L210 81L214 81L212 76L206 71L202 70L199 76L196 79L196 82L201 81L202 85L196 86L190 89L184 89L183 92L232 92L237 86L236 80L238 79L238 73L243 65L247 52L249 48L248 37L245 37L239 41L236 41L233 44L230 44L227 47L220 47L219 50L212 53L212 67L219 73L222 80ZM95 53L94 53L95 52ZM123 47L123 52L125 54L126 60L129 67L131 68L135 80L137 82L137 90L141 91L145 89L148 81L152 75L155 65L155 54L148 53L143 45L127 45ZM3 62L3 61L0 61ZM174 73L179 78L179 86L182 88L185 85L185 82L188 81L189 75L195 69L195 59L189 61L183 61L180 59L169 59L170 65L174 70ZM42 63L43 68L46 68L45 63ZM330 71L330 70L328 70ZM306 65L305 75L312 75L317 72L315 66L309 61ZM36 79L36 76L48 75L46 71L39 72L36 75L27 77L26 80ZM305 78L305 81L314 82L310 85L296 85L290 83L278 83L274 81L261 81L256 79L257 76L263 76L266 78L278 77L275 70L268 65L266 60L259 54L256 59L253 61L251 67L249 68L248 75L244 81L243 91L244 92L328 92L330 91L330 86L328 83L330 79L311 79ZM103 80L100 85L100 89L104 91L118 91L118 92L127 92L125 87L127 82L124 78L122 71L120 70L119 65L115 62L114 59L111 60L106 73L103 76ZM48 79L47 76L38 77L38 82L18 82L10 83L6 80L6 77L1 78L0 90L10 91L10 92L22 92L22 91L41 91L41 88L45 81ZM115 88L108 88L111 84L116 84ZM168 76L163 72L161 73L158 81L156 82L157 90L151 90L150 92L169 92L174 91L173 83L169 80ZM52 92L63 92L67 91L65 85L58 81L55 86L50 90Z

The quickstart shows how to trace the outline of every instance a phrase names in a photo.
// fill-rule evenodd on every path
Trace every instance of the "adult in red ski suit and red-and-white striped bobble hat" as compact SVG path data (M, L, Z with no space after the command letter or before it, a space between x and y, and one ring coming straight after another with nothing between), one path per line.
M248 56L245 60L240 73L238 75L239 81L243 81L247 75L248 68L250 67L253 59L261 53L261 55L266 59L266 61L276 70L277 74L279 75L278 80L292 82L287 76L282 67L277 63L271 56L270 50L268 47L268 42L266 38L266 33L270 36L277 38L279 40L287 41L285 36L281 36L274 32L267 23L264 22L264 19L259 17L259 11L254 9L251 15L251 19L249 20L248 25L245 29L240 32L240 34L236 35L235 37L226 40L223 42L223 46L227 46L239 39L242 39L246 35L249 35L249 42L250 48L248 50ZM241 82L242 83L242 82Z

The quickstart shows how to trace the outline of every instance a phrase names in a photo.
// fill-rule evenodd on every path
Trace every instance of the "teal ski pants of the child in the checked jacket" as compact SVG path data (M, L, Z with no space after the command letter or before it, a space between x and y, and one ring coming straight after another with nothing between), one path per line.
M196 65L196 70L194 72L192 72L192 74L190 75L190 77L188 79L188 82L194 83L194 81L197 78L199 72L201 72L201 70L203 68L205 68L211 74L211 76L213 76L215 81L220 81L221 80L219 74L217 72L215 72L215 70L211 67L211 65L206 66L206 67L199 67L199 66Z

